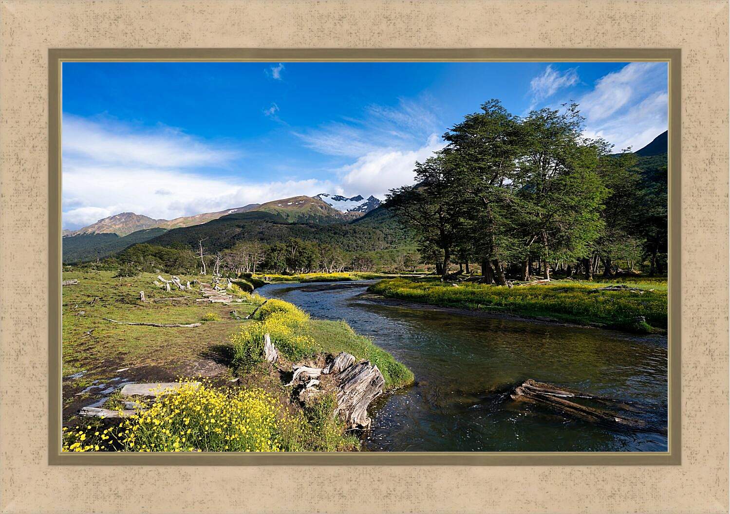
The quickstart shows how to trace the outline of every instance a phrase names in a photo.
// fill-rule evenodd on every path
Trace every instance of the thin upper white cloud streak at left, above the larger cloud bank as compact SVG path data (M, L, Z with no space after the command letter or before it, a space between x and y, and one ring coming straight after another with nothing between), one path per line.
M220 166L237 152L214 147L177 129L137 129L107 120L103 123L64 114L64 158L88 159L96 164L155 167Z

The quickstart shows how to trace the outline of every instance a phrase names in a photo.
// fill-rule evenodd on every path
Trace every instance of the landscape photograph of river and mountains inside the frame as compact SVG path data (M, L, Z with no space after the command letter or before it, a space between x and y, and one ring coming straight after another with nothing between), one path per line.
M61 453L671 459L672 54L313 57L61 61Z

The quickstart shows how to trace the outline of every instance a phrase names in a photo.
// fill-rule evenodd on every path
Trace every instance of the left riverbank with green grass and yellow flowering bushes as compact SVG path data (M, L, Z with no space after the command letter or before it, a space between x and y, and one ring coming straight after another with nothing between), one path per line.
M180 280L183 284L188 280L210 283L211 278L191 276ZM143 445L147 450L161 451L358 450L358 438L334 420L335 404L330 396L301 404L293 397L292 388L284 386L291 365L324 361L326 356L345 351L358 361L367 359L377 364L383 372L385 391L413 382L409 369L345 322L312 320L291 304L278 301L267 302L268 307L259 308L253 319L245 319L261 307L264 299L237 288L228 290L233 299L224 304L208 303L199 284L193 283L191 289L166 291L155 285L156 275L146 273L115 277L113 272L72 271L64 272L63 280L77 281L64 285L63 296L66 450L141 450ZM144 299L140 291L144 291ZM272 312L283 316L270 315ZM291 323L293 312L297 319ZM175 326L159 326L170 324ZM261 340L251 336L262 329L271 333L282 356L277 367L265 362L258 352L248 352L253 356L248 362L240 359L245 342L255 343L258 350ZM151 408L147 418L155 426L161 423L154 430L143 426L143 416L123 421L124 431L112 438L113 445L100 439L101 434L111 437L109 420L77 416L82 407L117 408L123 401L130 401L120 397L120 388L125 384L167 383L181 378L201 381L204 386L169 395L177 398L177 404L158 402L159 407ZM240 408L234 412L230 405ZM237 443L220 438L214 444L210 437L204 437L210 426L201 416L196 421L187 416L186 422L184 413L198 412L198 407L210 410L211 418L228 420L218 429L237 439ZM178 446L174 446L174 438L160 435L166 430L177 434L183 425L186 434L177 438ZM257 427L261 437L272 442L243 437L240 429L244 425ZM85 429L87 426L91 429ZM137 434L137 442L122 435L126 431ZM96 432L99 434L93 436ZM72 448L76 442L80 444Z

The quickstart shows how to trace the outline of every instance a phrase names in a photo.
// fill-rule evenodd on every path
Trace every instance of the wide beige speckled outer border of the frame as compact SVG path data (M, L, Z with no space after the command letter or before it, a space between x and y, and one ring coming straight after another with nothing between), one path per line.
M727 0L0 0L0 513L727 513L728 15ZM681 464L49 465L48 50L216 47L680 49Z

